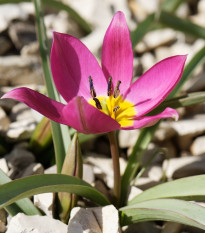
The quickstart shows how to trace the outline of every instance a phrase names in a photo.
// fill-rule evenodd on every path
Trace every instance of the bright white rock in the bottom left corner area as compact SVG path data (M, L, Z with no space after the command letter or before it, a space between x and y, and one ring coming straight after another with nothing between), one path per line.
M13 217L6 233L67 233L67 225L47 216L27 216L19 213Z

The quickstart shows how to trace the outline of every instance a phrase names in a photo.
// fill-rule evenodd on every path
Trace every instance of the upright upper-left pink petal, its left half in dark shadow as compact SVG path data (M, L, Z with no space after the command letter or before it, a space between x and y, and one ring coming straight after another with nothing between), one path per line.
M51 70L55 85L69 102L75 96L91 98L88 77L93 79L96 94L104 95L107 80L101 67L87 47L67 34L53 33Z

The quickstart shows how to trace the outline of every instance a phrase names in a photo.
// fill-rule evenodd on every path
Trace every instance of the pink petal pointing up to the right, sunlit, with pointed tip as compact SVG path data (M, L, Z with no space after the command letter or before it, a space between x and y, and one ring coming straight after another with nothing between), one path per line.
M186 57L179 55L166 58L132 84L125 99L136 105L138 116L150 112L174 89L182 76Z

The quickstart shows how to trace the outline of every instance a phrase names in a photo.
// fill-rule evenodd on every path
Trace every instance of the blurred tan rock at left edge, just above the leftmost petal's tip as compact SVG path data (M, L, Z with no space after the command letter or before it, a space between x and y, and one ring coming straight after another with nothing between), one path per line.
M0 86L43 84L40 59L34 56L0 57Z

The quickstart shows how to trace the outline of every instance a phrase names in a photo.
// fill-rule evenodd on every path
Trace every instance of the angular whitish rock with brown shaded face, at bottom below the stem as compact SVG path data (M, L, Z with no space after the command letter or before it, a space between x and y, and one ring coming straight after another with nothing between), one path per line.
M119 233L118 211L114 206L73 208L68 233Z

